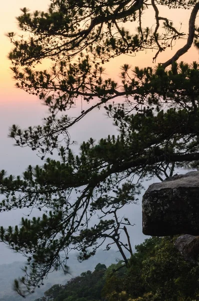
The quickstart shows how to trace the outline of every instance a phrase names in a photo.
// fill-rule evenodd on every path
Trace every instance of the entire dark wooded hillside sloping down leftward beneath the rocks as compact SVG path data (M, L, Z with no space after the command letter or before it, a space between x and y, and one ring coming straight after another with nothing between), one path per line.
M149 238L122 262L98 263L65 285L53 285L38 301L191 301L199 296L199 268L184 261L176 237Z

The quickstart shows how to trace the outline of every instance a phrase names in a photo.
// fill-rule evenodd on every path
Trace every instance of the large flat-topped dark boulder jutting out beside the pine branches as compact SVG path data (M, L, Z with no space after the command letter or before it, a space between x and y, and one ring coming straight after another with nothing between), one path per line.
M145 235L199 235L199 172L175 175L149 186L142 199Z

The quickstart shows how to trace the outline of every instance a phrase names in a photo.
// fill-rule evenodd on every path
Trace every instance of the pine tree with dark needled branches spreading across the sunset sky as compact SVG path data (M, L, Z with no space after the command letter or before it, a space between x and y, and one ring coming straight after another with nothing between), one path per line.
M188 32L175 28L162 8L188 10ZM199 45L198 9L194 0L51 0L46 12L21 10L17 22L24 35L8 33L11 70L16 86L49 110L41 125L12 125L9 132L44 164L29 165L16 177L0 172L1 212L46 210L22 218L20 226L0 227L0 241L27 257L24 277L14 281L22 296L51 270L67 272L71 249L85 260L100 245L114 244L128 267L124 250L132 256L133 221L120 218L119 210L137 202L143 180L162 181L178 168L198 167L198 63L180 61ZM147 11L151 28L143 25ZM180 39L184 45L177 49ZM123 64L117 82L104 73L105 63L121 55L133 61L138 52L153 51L155 63L171 48L171 57L154 68ZM51 67L40 71L43 60ZM65 113L78 103L88 108L78 116ZM118 135L90 138L76 155L69 129L95 108L105 110ZM59 161L47 158L56 151Z

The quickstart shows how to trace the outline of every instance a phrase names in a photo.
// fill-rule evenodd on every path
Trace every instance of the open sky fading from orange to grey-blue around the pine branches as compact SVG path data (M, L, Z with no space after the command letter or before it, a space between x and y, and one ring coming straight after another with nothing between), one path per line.
M20 8L27 7L32 10L45 10L49 4L49 0L6 0L1 4L1 18L0 18L0 170L4 169L8 174L20 175L24 169L29 165L41 164L41 161L34 152L27 148L19 148L13 146L13 141L7 137L8 128L12 124L19 124L21 127L29 125L36 125L41 122L41 119L46 115L46 108L41 105L36 96L26 94L24 91L14 87L14 80L9 69L10 63L7 59L7 54L11 50L11 44L5 36L7 32L19 32L15 17L20 15ZM174 21L177 28L182 27L183 31L187 30L187 20L190 14L189 11L168 9L160 10L164 16L169 16L170 20ZM149 14L144 15L144 23L148 25L154 24L154 16ZM137 26L137 25L136 25ZM178 47L183 45L185 40L182 40ZM158 62L166 61L177 50L176 47L169 49L166 53L161 54ZM105 66L106 75L117 79L116 74L119 73L119 67L123 63L128 63L133 66L155 66L152 64L152 57L154 53L141 52L136 57L121 56ZM189 50L183 58L186 62L198 60L198 52L195 48ZM180 59L180 60L181 60ZM77 108L73 109L75 113ZM81 123L74 126L71 130L71 137L73 140L82 142L89 137L99 139L106 137L108 134L115 134L116 129L112 126L111 120L105 115L102 110L96 109L89 116L84 118ZM153 182L155 179L153 180ZM150 183L146 184L149 185ZM126 213L126 212L124 212ZM8 225L15 225L19 222L21 212L15 210L8 213L0 213L0 225L7 227ZM133 206L132 212L127 212L133 222L136 224L130 233L132 244L138 244L145 236L141 233L141 207ZM10 263L13 260L21 260L18 254L14 254L8 250L2 243L0 243L0 263Z

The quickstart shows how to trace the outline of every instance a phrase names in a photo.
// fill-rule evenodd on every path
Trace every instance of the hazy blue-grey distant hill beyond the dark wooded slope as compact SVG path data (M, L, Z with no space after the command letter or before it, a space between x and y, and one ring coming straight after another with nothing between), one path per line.
M103 251L99 249L97 253L90 259L81 263L77 260L77 253L70 253L68 259L68 266L70 268L70 274L64 275L62 271L54 271L50 273L44 281L42 288L36 289L31 295L26 297L27 301L35 300L43 295L43 292L50 288L53 284L65 284L70 278L80 275L80 273L90 270L93 271L97 263L103 263L109 266L114 263L116 259L121 259L118 252L114 250ZM0 301L21 301L24 298L20 297L12 290L12 283L14 278L22 276L21 271L23 263L21 261L15 261L10 264L0 264Z

